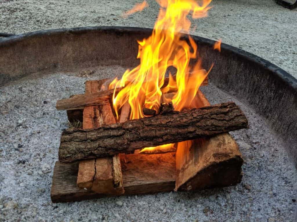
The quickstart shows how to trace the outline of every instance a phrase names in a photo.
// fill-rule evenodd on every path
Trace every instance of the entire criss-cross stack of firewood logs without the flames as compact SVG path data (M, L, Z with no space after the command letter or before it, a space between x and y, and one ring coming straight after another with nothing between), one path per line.
M178 112L172 104L162 104L158 114L144 109L151 117L129 120L126 103L116 121L113 90L102 91L105 81L87 81L86 94L57 102L56 108L67 110L69 121L81 121L82 128L69 128L61 135L53 202L199 190L241 181L243 159L228 131L248 123L235 103L210 106L199 90L195 106L200 108ZM187 140L194 140L192 146L171 152L135 152Z

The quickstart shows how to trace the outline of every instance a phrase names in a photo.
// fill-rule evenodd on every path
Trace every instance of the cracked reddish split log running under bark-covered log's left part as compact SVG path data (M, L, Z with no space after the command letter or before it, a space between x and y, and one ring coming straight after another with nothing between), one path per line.
M103 81L87 81L86 94L99 91ZM110 104L86 106L83 110L83 129L92 129L116 120ZM77 186L97 193L124 193L119 155L84 160L79 163Z

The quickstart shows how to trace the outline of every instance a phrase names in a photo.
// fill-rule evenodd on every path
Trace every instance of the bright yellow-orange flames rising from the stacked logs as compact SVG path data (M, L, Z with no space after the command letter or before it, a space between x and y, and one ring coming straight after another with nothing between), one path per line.
M207 16L211 0L200 0L200 4L194 0L157 2L160 9L154 30L151 36L138 41L137 58L140 59L140 64L132 70L126 70L120 80L116 78L109 85L109 89L122 87L118 93L115 90L113 94L113 107L117 118L120 108L127 101L131 106L130 119L145 117L143 107L158 111L161 99L166 102L171 100L178 111L189 108L199 86L210 71L203 70L193 38L188 35L185 40L181 32L189 33L191 22L187 16L190 13L192 18ZM141 7L136 5L130 11L135 8ZM170 66L176 68L176 78L170 75L168 85L162 89L165 73ZM175 92L171 98L164 96L168 91ZM173 144L159 146L157 149L166 146L172 148Z

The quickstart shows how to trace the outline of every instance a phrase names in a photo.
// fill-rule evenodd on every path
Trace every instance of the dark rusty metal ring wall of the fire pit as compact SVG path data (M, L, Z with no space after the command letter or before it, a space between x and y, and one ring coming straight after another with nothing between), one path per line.
M8 87L13 81L26 81L29 78L57 72L79 74L86 69L100 72L111 65L134 67L138 65L136 40L148 37L151 32L151 29L143 28L87 27L41 31L2 38L0 39L0 63L5 66L0 67L0 83ZM187 39L187 36L183 38ZM249 113L255 110L255 114L263 118L272 132L281 139L296 166L296 79L268 61L240 49L222 44L221 53L219 53L213 50L214 41L198 36L192 36L192 38L198 45L197 53L203 59L202 66L208 70L214 62L214 67L209 74L210 86L201 88L206 97L212 91L213 94L209 99L214 104L227 101L225 97L233 96L238 99L235 102L239 102L241 107L246 106ZM112 77L114 73L109 75ZM61 96L57 99L61 99ZM251 117L248 115L248 118ZM257 121L264 124L261 120L252 120L250 123L252 130L259 130L256 127ZM233 136L236 140L240 138L236 133ZM265 138L265 136L262 137ZM259 141L253 142L257 147ZM239 146L243 147L241 143ZM256 148L254 149L256 152ZM262 158L265 158L265 155ZM65 165L61 167L67 171ZM78 166L75 167L78 170ZM69 178L76 182L78 171L75 172L72 169L68 171ZM244 173L249 175L245 170ZM170 178L167 182L170 189L173 189ZM244 184L248 191L252 189L251 186ZM72 197L67 199L69 196L63 196L64 190L60 191L59 200L56 199L56 201L73 200ZM86 193L84 199L94 198L90 192ZM73 195L76 194L73 193ZM96 197L99 196L98 194Z

